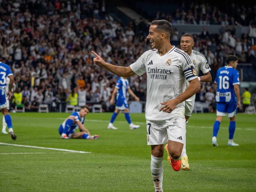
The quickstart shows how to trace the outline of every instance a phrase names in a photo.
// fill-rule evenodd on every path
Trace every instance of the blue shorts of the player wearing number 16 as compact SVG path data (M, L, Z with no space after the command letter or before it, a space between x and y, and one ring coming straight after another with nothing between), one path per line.
M234 117L237 112L236 101L232 102L217 102L217 116Z

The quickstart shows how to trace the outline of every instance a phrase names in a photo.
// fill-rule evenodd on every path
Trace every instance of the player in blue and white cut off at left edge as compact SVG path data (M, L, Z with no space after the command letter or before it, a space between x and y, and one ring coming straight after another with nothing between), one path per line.
M10 78L9 92L7 93L7 95L5 95L6 77ZM16 140L17 136L14 134L14 132L12 130L12 119L11 119L11 116L9 115L9 112L7 109L8 104L9 104L8 100L11 98L11 94L12 94L13 82L14 82L14 79L13 79L13 74L12 74L10 67L8 65L0 62L0 90L1 90L0 108L4 115L5 122L8 126L9 135L12 137L12 140ZM7 96L7 98L6 98L6 96Z

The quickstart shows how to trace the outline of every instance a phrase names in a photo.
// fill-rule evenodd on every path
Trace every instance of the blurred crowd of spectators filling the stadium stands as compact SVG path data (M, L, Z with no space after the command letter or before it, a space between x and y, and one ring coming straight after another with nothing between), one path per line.
M123 26L106 11L104 0L1 2L0 56L1 62L8 64L14 74L16 91L12 109L14 105L24 104L26 111L37 111L40 103L47 103L50 111L60 107L63 111L69 102L78 106L101 103L104 111L113 111L109 100L118 77L94 65L91 50L108 63L129 66L151 48L145 38L150 22L147 19L139 23L133 20ZM249 8L240 7L240 12L237 12L237 6L235 8L236 15L233 15L233 9L224 14L215 7L204 4L199 7L192 3L189 9L176 10L175 17L157 12L156 18L174 23L179 18L184 23L196 20L195 24L213 18L218 23L211 19L207 24L222 24L218 34L210 34L204 28L201 35L194 35L193 49L208 60L214 81L218 68L225 64L228 55L236 55L242 63L254 64L256 60L254 21L248 23L249 33L245 31L240 38L235 36L236 23L232 22L232 17L240 15L239 22L246 24L246 18L250 18ZM228 18L231 23L226 22ZM174 28L171 40L177 42L177 47L178 35ZM132 76L129 81L132 91L140 101L145 101L145 74ZM201 82L196 101L206 102L214 110L215 92L214 84ZM212 111L212 107L209 110Z

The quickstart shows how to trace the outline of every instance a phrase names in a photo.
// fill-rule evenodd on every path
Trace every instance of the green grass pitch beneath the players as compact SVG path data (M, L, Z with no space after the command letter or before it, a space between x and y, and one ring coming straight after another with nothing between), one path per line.
M100 135L98 140L61 140L58 128L68 115L11 114L17 140L0 134L0 191L155 191L145 114L130 114L132 122L140 124L136 130L129 129L124 114L119 114L114 123L118 130L109 130L112 113L89 113L85 127L91 134ZM175 172L164 152L164 192L256 191L256 115L236 116L234 141L239 147L227 146L228 117L224 117L220 125L219 147L212 147L215 118L216 114L190 117L187 126L189 170Z

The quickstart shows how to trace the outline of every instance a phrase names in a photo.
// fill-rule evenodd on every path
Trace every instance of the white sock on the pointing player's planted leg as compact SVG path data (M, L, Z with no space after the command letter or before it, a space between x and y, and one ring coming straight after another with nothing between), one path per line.
M154 186L156 188L156 191L162 191L163 192L163 173L164 173L164 169L163 169L163 165L162 165L162 161L163 161L164 157L161 158L157 158L151 155L151 176L154 182Z

